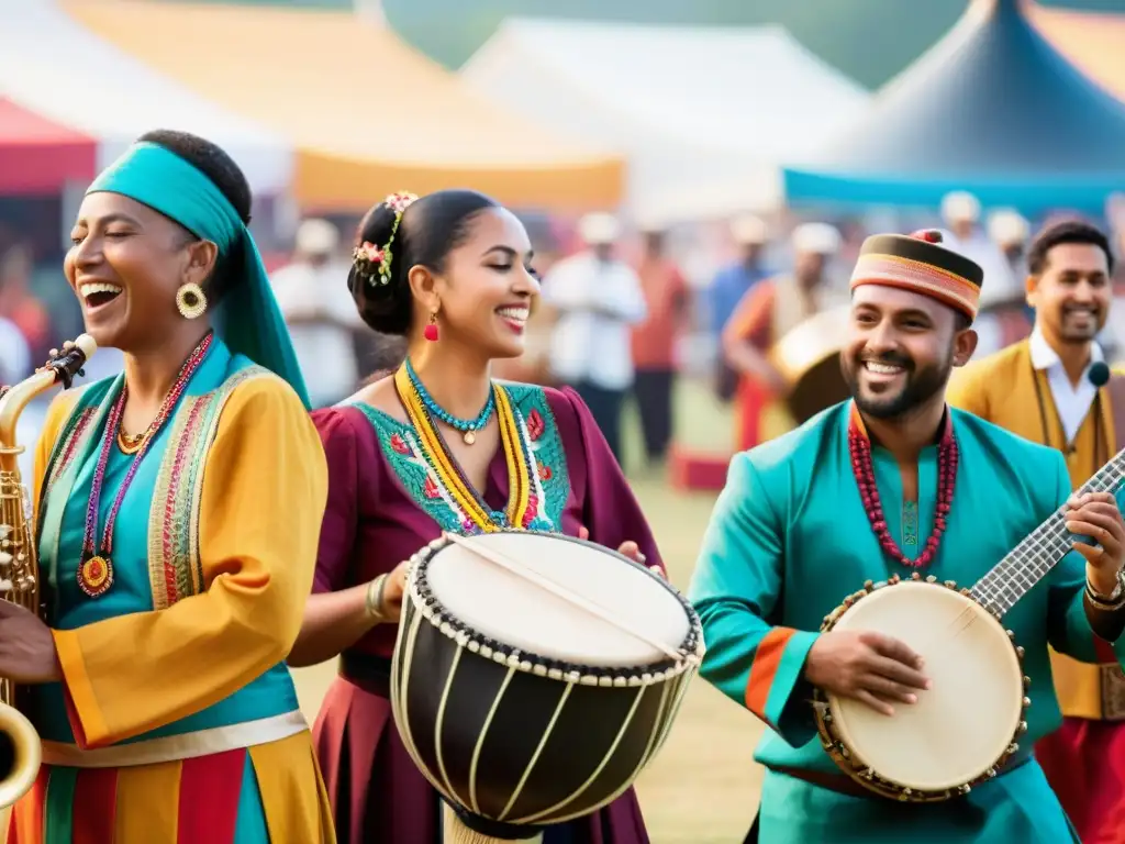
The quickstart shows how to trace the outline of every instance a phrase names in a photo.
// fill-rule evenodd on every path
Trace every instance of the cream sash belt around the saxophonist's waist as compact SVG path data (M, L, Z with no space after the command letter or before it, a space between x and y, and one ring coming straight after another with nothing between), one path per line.
M308 729L299 710L254 721L212 727L179 736L82 749L63 742L43 742L43 763L61 767L132 767L178 762L197 756L279 742Z

